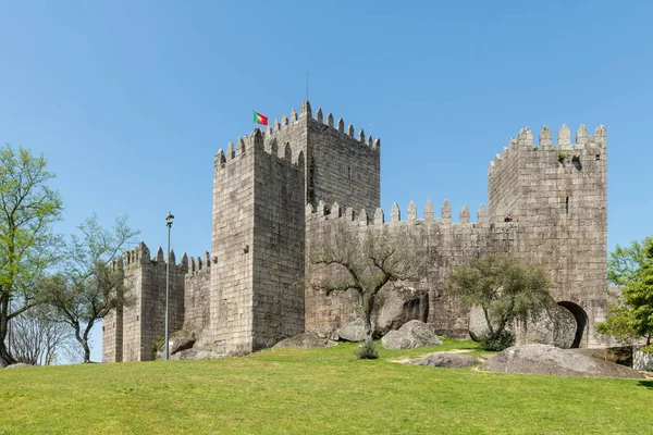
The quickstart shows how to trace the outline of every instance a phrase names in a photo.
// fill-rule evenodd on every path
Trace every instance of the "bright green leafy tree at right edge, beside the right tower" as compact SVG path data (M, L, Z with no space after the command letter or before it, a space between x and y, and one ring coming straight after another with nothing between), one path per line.
M644 350L653 352L653 237L617 249L608 262L611 282L623 285L617 302L607 307L605 322L596 332L625 343L644 338Z

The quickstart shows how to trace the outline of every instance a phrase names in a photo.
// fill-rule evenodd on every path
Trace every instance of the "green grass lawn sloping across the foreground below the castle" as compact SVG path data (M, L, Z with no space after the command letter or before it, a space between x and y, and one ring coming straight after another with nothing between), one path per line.
M357 361L355 345L0 370L0 434L651 434L653 382ZM479 355L475 350L475 355Z

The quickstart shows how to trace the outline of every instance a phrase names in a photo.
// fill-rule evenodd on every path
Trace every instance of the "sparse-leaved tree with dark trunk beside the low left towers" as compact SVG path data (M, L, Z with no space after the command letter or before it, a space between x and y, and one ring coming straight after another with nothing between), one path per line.
M128 304L123 269L111 268L110 263L139 232L127 226L126 217L116 219L113 228L103 228L96 215L78 229L82 236L73 235L66 244L64 273L52 276L44 294L60 319L73 328L84 350L84 362L90 362L88 337L95 322L116 304Z

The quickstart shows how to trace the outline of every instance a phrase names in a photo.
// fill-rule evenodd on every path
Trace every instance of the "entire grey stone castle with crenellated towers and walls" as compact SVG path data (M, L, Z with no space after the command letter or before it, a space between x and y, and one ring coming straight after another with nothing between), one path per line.
M433 261L416 286L428 294L427 321L441 334L465 336L467 313L443 289L451 268L489 252L504 252L550 274L552 295L577 322L575 346L599 347L594 325L607 301L606 134L584 125L571 142L563 125L553 144L543 127L539 144L529 128L496 154L488 172L488 209L470 222L465 206L457 223L445 200L440 217L429 201L423 217L412 204L390 222L380 207L380 139L345 128L308 101L297 114L263 133L229 144L215 154L211 253L177 263L174 252L153 259L145 244L120 264L134 303L103 319L102 358L108 362L153 358L164 334L165 269L170 262L171 331L188 330L201 346L243 353L312 331L329 334L357 315L355 295L312 288L323 273L307 251L334 228L384 226L407 231L407 244ZM506 213L513 221L504 222ZM408 228L408 229L407 229Z

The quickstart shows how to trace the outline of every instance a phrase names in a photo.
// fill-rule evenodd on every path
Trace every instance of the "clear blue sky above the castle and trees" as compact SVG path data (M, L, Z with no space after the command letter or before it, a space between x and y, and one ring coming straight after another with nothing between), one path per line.
M199 256L213 156L251 110L298 110L309 72L313 111L381 137L386 213L473 215L521 127L606 125L612 249L653 234L653 4L570 3L0 0L0 142L49 159L58 231L128 214L153 251L171 210Z

